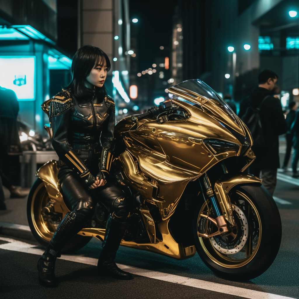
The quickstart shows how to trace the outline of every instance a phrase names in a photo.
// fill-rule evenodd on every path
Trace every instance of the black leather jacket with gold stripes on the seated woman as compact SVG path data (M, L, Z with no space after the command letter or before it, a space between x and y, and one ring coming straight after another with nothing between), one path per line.
M58 165L66 164L86 186L94 176L107 179L114 152L114 100L77 100L70 91L61 91L51 99L49 120Z

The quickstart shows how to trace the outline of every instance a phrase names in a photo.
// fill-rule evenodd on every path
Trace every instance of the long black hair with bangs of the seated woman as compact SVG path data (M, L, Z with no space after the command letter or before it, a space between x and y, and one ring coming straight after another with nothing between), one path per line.
M77 50L73 57L71 67L72 80L66 89L70 89L77 98L92 97L94 93L91 89L84 86L84 80L86 77L88 77L90 71L96 63L101 65L105 62L107 71L109 71L111 68L111 63L104 51L102 51L100 48L90 45L81 47L79 50ZM96 87L95 94L99 100L103 99L107 94L105 85L102 87Z

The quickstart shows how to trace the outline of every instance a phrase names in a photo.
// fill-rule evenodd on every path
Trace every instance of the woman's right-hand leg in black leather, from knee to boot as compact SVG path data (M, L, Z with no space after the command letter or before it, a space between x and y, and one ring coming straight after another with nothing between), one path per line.
M110 215L106 224L106 233L103 241L103 250L98 261L98 273L101 276L129 280L132 275L116 266L114 259L126 230L127 218L131 210L131 201L122 190L107 183L96 191L98 198L109 207Z

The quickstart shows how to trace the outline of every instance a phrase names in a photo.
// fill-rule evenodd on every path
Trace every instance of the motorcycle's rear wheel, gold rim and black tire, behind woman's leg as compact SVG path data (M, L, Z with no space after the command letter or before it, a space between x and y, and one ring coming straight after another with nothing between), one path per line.
M49 202L50 198L44 182L36 179L28 195L27 219L33 236L44 247L48 246L63 217L62 213L56 213L55 210L46 210L46 207L49 208ZM62 253L73 252L84 247L91 238L75 235L66 243Z

